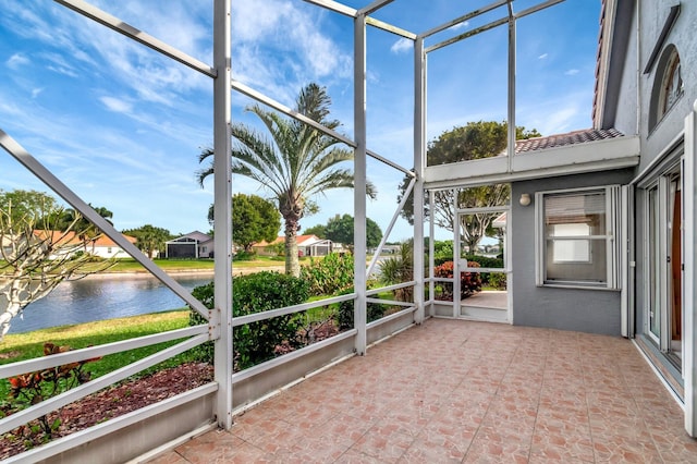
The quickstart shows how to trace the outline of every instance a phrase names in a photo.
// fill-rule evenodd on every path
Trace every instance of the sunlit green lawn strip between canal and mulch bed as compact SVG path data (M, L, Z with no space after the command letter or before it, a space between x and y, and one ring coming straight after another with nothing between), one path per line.
M44 343L50 342L61 346L70 346L73 350L90 345L101 345L121 340L133 339L168 330L181 329L188 326L188 310L175 310L155 313L149 315L133 316L118 319L101 320L95 322L78 323L74 326L53 327L40 329L27 333L8 334L0 343L0 364L15 363L23 359L32 359L44 355ZM85 370L93 378L103 376L150 354L157 353L176 341L144 346L122 353L114 353L99 361L85 365ZM2 354L5 354L2 356ZM9 355L8 355L9 354ZM159 366L155 366L139 373L137 376L150 371L171 367L189 361L187 353L168 359ZM0 380L0 398L5 398L9 391L9 381Z

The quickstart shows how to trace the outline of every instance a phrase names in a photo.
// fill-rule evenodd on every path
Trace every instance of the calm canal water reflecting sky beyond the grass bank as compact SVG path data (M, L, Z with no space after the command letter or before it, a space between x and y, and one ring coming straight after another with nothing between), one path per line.
M188 290L212 280L212 276L172 277ZM9 333L159 313L184 306L182 298L154 277L87 278L62 282L48 296L30 303L24 308L24 317L12 319Z

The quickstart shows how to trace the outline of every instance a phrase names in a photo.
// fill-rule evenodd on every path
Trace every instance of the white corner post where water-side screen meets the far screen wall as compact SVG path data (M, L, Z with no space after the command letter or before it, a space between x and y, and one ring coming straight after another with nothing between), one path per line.
M424 321L424 169L426 167L426 53L424 39L414 41L414 321ZM432 211L431 211L432 215ZM430 237L432 241L432 236Z

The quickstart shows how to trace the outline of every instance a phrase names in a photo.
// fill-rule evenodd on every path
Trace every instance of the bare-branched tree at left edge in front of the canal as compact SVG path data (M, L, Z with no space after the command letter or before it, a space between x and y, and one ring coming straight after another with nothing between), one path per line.
M46 197L37 203L21 202L17 209L22 212L16 212L12 198L21 196L8 199L7 194L0 195L0 341L12 318L59 283L113 265L111 260L90 262L90 256L76 253L82 247L74 240L81 234L76 229L80 217L64 223L63 208Z

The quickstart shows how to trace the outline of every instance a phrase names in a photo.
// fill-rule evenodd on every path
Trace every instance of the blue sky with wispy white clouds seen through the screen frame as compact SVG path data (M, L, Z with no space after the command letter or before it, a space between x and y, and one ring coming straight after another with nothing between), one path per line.
M344 0L354 8L367 0ZM131 25L206 63L212 59L212 1L93 1ZM233 0L233 77L293 106L309 82L328 88L332 115L353 134L353 26L301 0ZM420 33L490 1L395 0L375 16ZM537 2L516 0L515 11ZM543 135L590 127L599 0L566 0L517 26L517 125ZM212 182L195 181L197 155L212 141L209 78L49 0L0 0L0 129L86 202L113 211L117 229L146 223L172 233L210 229ZM478 27L500 9L431 39ZM504 121L506 29L499 27L429 56L428 138L468 121ZM413 164L413 52L399 37L368 30L368 147ZM233 120L254 125L233 95ZM378 199L368 217L384 230L402 175L375 160ZM47 191L7 152L0 188ZM269 197L233 179L234 192ZM304 228L353 213L351 191L316 198ZM400 220L390 241L412 235Z

